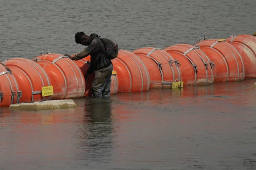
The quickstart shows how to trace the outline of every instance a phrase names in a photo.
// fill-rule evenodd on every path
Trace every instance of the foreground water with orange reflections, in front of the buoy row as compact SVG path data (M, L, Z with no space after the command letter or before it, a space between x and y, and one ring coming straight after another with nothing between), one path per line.
M0 169L253 169L255 80L0 114Z

